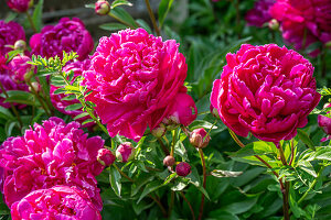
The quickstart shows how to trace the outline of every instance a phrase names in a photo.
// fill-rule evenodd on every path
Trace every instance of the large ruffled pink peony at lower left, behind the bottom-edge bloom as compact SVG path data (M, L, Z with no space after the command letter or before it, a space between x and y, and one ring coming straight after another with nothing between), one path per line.
M33 190L66 185L85 189L102 210L95 176L103 169L97 162L103 147L99 136L87 139L77 122L66 124L58 118L34 124L24 136L9 138L0 147L7 205L11 207Z

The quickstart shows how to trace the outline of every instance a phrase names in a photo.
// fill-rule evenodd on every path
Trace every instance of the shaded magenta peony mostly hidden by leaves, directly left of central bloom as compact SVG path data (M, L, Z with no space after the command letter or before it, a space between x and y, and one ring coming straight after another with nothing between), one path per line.
M67 64L63 70L68 73L68 72L74 72L74 78L73 80L78 77L82 76L83 70L88 69L88 67L90 66L90 61L89 59L85 59L83 62L79 61L75 61L73 63ZM83 113L83 109L77 109L77 110L65 110L66 107L74 105L74 103L81 103L77 99L74 100L62 100L63 98L67 97L68 95L64 95L64 94L54 94L54 91L56 89L58 89L60 87L53 86L51 85L50 88L50 97L51 97L51 101L52 105L55 107L55 109L57 109L60 112L64 113L64 114L68 114L72 118L75 118L76 116ZM77 119L77 121L79 123L84 122L86 119L89 119L89 117L83 117ZM83 127L93 127L95 123L94 122L89 122L87 124L84 124Z

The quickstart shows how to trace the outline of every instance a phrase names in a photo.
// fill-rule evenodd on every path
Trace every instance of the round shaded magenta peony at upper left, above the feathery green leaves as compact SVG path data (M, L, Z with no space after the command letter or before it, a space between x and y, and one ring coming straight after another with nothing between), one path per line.
M63 51L76 52L79 61L87 58L94 47L93 38L78 18L62 18L53 26L44 26L41 33L34 34L30 40L32 54L43 57L58 56Z

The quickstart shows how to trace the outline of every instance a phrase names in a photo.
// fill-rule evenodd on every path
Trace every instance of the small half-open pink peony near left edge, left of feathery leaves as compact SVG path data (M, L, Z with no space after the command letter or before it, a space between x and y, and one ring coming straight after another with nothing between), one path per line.
M17 81L24 81L25 74L29 74L34 68L34 66L26 62L31 62L31 58L25 55L18 55L10 61L9 66Z

